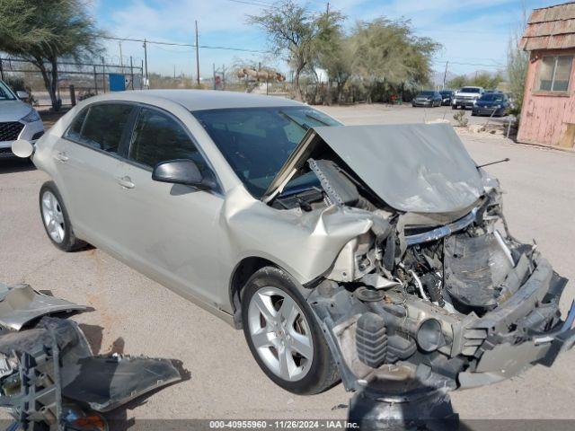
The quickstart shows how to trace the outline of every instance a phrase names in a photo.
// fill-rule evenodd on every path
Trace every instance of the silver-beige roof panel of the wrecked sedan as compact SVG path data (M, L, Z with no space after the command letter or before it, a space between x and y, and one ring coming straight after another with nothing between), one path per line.
M187 110L217 110L226 108L265 108L274 106L305 106L284 97L265 96L246 92L221 92L214 90L132 90L109 92L102 100L127 100L151 102L163 99L178 103Z

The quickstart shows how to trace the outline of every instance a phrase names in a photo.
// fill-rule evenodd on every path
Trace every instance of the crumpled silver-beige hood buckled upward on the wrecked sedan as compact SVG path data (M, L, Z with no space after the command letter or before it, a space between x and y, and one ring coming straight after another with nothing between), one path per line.
M454 128L445 123L338 126L308 130L271 182L272 196L328 145L387 205L414 213L451 213L482 196L482 179Z

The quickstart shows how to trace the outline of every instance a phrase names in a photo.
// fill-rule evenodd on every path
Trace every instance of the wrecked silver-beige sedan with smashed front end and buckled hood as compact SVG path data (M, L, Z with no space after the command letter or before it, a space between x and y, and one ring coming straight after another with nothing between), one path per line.
M445 123L153 90L95 96L14 146L49 176L57 248L89 242L243 328L288 391L398 369L441 391L494 383L575 343L567 280L509 233L499 183Z

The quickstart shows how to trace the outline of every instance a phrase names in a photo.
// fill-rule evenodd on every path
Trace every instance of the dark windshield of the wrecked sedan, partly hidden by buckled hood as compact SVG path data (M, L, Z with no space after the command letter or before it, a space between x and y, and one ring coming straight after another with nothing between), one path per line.
M196 110L193 116L254 198L261 198L289 154L314 126L341 126L305 106ZM289 189L317 185L314 175L290 182Z

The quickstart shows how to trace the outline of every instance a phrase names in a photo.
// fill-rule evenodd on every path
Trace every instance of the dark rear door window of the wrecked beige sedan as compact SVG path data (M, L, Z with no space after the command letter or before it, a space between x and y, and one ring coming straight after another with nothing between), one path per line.
M108 153L118 153L128 123L131 105L101 103L81 112L66 131L66 137Z

